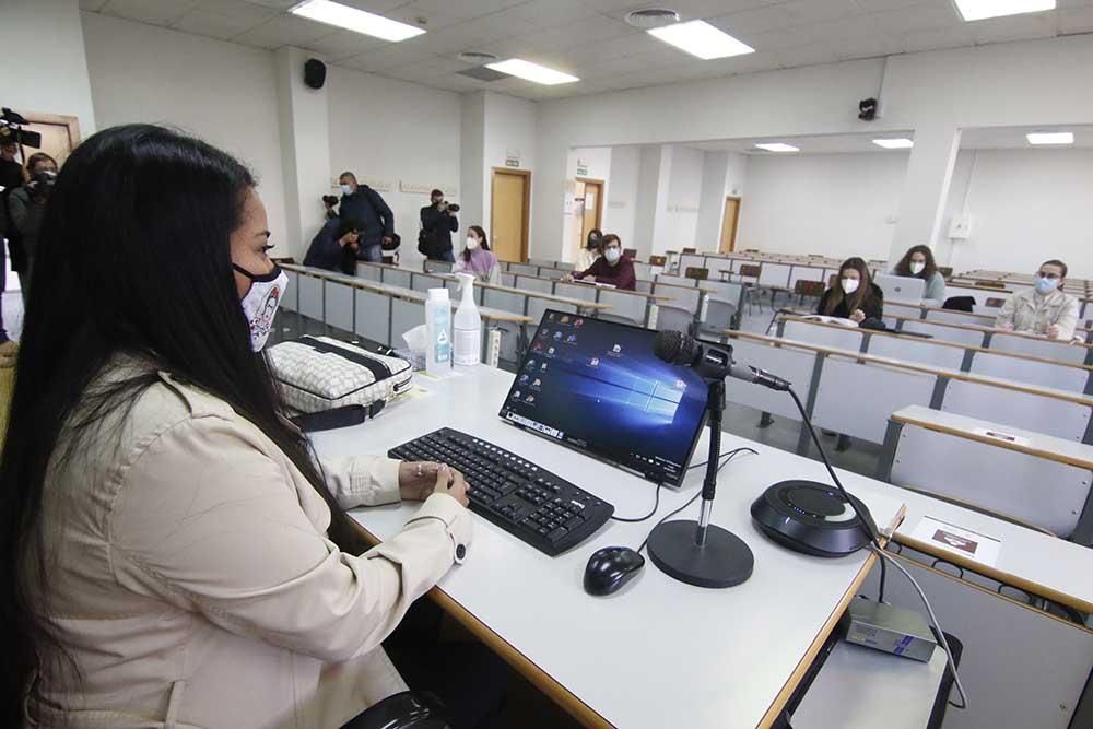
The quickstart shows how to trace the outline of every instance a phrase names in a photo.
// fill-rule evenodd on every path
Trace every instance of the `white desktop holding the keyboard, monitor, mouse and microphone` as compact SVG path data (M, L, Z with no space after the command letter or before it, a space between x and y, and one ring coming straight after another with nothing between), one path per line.
M443 383L421 378L427 393L392 404L364 425L315 434L315 446L320 455L383 454L447 425L551 469L614 504L620 516L648 510L653 484L497 419L512 377L478 367ZM556 682L583 703L588 709L583 719L591 726L767 726L872 557L867 561L861 552L842 560L808 557L761 536L751 525L751 502L773 481L813 472L814 463L725 435L724 450L741 445L754 447L760 456L742 455L725 468L713 513L714 524L742 537L755 554L754 574L739 587L691 587L649 563L620 592L592 598L581 589L589 555L607 545L637 546L655 520L610 522L584 544L551 558L477 519L468 560L446 575L439 588L545 674L540 685ZM700 462L705 447L704 438L696 451ZM692 470L679 492L665 490L660 516L695 493L701 471ZM855 487L879 525L894 521L901 492L860 477ZM694 518L697 510L695 504L678 518ZM412 512L412 505L396 505L352 514L385 539Z

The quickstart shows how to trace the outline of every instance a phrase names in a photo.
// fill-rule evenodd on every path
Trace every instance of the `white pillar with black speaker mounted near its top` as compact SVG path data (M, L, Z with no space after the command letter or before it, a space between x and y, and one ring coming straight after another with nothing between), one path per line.
M322 226L321 198L331 193L330 124L326 89L304 84L304 62L312 55L284 47L275 52L278 124L284 167L284 255L302 260Z

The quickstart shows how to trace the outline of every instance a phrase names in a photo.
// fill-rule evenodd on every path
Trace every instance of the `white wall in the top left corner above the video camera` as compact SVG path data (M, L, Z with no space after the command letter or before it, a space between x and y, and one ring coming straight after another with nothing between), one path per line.
M4 106L74 116L82 138L95 132L77 0L3 0L0 49Z

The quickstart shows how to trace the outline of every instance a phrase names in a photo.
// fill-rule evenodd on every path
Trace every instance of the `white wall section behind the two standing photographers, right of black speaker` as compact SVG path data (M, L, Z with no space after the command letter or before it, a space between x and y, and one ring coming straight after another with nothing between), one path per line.
M460 201L459 95L336 66L327 67L327 84L331 183L341 172L351 171L362 183L389 184L391 191L380 195L402 236L402 261L420 261L419 213L428 204L428 190L440 188L449 200ZM402 192L401 183L426 189ZM321 203L316 200L315 204ZM473 223L460 216L454 243L467 224Z

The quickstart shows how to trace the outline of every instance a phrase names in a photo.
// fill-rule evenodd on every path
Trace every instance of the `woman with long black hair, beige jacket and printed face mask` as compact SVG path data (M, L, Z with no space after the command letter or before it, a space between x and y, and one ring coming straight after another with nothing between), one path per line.
M58 176L0 462L0 725L338 727L404 690L379 644L466 554L467 486L316 463L256 354L269 236L245 167L158 127ZM400 497L367 550L342 509Z

